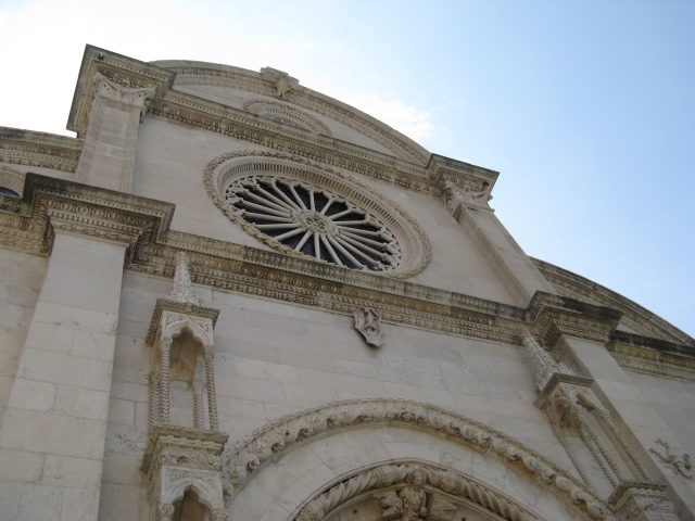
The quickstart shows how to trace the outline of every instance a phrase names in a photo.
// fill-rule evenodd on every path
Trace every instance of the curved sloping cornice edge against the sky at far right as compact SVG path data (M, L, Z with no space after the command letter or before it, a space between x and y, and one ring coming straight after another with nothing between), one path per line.
M618 309L623 314L621 322L647 336L695 346L695 339L630 298L553 264L531 260L560 294Z

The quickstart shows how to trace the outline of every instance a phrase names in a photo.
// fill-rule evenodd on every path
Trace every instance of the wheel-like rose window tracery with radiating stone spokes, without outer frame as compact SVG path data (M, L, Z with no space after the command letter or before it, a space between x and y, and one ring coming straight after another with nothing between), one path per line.
M249 176L229 185L225 200L262 233L318 260L371 271L401 263L399 242L379 219L314 185Z

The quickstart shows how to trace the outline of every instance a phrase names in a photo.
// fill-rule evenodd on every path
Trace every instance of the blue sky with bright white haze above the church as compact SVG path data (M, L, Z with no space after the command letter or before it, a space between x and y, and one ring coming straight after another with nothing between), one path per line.
M677 0L0 0L0 125L70 134L85 43L269 65L500 170L529 255L695 334L694 35Z

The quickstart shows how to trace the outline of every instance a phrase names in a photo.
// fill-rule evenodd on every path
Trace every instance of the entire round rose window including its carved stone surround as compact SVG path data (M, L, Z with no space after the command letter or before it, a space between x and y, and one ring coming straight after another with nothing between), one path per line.
M420 227L395 203L295 156L225 154L208 165L205 183L229 218L290 255L399 278L431 256Z

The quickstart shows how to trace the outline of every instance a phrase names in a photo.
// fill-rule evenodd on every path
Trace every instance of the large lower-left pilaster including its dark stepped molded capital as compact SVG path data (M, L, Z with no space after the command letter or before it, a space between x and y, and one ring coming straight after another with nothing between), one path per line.
M24 198L50 258L0 427L0 486L21 497L13 519L96 520L124 262L172 207L35 175Z

